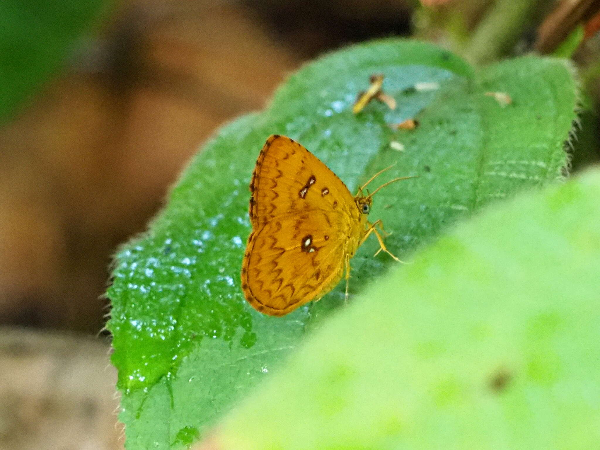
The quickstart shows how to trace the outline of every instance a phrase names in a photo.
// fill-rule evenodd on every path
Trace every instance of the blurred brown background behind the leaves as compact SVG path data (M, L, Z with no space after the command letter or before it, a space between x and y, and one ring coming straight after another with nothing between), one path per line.
M199 146L223 122L261 109L302 62L397 35L481 62L534 47L551 53L590 17L600 28L596 0L524 1L505 29L486 21L497 5L506 10L506 0L421 3L433 6L122 1L80 43L64 69L0 128L0 450L122 448L109 345L83 337L103 327L111 256L145 229ZM596 64L598 47L596 37L580 49L583 67ZM592 99L600 95L597 80L593 71L584 79ZM593 134L589 139L597 139ZM588 153L598 160L596 151Z

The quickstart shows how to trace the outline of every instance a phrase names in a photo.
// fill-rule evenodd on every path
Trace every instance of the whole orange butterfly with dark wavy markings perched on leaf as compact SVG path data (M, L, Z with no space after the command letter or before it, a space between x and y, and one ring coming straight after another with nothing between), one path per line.
M347 298L350 258L371 233L379 240L377 253L383 250L398 260L376 229L381 220L370 223L367 215L373 194L413 177L392 179L365 196L367 184L385 170L352 197L335 173L298 142L277 134L266 140L250 182L252 232L242 263L242 290L256 310L283 316L320 299L344 269Z

